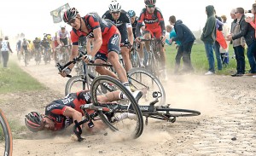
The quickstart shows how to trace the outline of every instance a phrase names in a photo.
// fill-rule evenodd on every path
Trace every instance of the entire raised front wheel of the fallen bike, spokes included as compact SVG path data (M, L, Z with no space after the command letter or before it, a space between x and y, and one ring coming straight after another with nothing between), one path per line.
M125 88L125 86L119 83L118 80L109 76L98 76L91 84L91 99L95 106L101 105L100 100L98 100L98 95L105 95L107 93L102 93L102 85L110 85L115 91L122 92L126 95L127 99L116 101L121 105L126 105L129 108L124 110L118 110L118 112L110 114L98 111L102 122L107 124L110 130L119 131L124 137L137 138L143 133L143 114L137 105L137 101L131 95L131 92ZM109 92L108 92L109 93Z

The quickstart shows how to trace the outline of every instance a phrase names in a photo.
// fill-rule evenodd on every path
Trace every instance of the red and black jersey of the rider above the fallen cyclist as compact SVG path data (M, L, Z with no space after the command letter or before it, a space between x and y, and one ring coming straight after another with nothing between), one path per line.
M102 19L98 14L96 13L90 13L86 14L84 17L82 17L82 20L84 20L85 26L88 29L88 33L77 31L73 28L71 31L71 40L73 45L79 45L79 37L87 37L87 38L94 38L93 30L101 27L102 29L102 36L109 33L109 32L116 32L116 30L112 30L113 24L108 21Z

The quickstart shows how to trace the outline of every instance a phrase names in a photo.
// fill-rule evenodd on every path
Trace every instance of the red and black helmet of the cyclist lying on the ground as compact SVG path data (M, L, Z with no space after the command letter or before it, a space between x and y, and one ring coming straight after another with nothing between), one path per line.
M25 116L25 124L33 132L44 130L43 116L37 112L28 113Z

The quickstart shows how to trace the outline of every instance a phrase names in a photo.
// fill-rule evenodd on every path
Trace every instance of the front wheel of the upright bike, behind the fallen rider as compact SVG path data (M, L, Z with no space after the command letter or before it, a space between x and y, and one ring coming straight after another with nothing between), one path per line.
M83 76L73 76L69 78L65 87L65 95L69 93L75 93L80 90L89 90L90 86L88 86L87 81Z

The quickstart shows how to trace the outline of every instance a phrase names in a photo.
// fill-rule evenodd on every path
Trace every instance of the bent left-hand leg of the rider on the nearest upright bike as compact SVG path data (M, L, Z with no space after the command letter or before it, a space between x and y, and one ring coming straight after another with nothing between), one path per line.
M96 53L96 56L95 56L96 64L106 63L107 61L108 61L108 57L105 54L103 54L101 52ZM118 79L116 74L114 74L113 72L108 70L105 66L96 66L96 72L98 72L101 75L108 75L110 77Z

